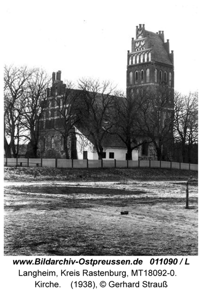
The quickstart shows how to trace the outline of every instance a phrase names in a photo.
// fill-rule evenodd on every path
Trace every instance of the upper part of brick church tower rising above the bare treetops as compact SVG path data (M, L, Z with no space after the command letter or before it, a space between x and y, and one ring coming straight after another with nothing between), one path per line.
M136 38L132 38L132 50L128 51L127 90L157 87L161 83L174 90L174 61L169 40L164 41L164 31L153 33L144 25L136 26Z

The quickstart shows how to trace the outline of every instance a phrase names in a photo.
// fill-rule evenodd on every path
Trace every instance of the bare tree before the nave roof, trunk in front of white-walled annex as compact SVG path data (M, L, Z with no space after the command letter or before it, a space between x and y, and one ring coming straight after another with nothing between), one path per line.
M78 85L81 91L78 103L80 128L102 159L103 140L114 126L111 116L119 93L109 82L82 79Z

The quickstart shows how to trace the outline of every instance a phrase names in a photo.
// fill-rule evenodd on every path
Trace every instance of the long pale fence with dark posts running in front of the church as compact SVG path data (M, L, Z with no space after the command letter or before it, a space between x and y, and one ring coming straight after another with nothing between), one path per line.
M198 171L198 164L167 161L130 160L73 160L73 159L25 159L4 158L4 166L52 167L52 168L167 168Z

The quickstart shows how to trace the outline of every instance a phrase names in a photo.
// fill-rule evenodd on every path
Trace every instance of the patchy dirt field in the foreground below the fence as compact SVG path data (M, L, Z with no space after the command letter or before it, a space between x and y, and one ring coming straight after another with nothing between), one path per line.
M75 180L59 182L41 181L42 169L31 171L28 177L24 170L5 170L5 255L198 255L196 183L185 209L185 179L197 173L156 170L159 181L150 181L151 169L136 170L136 179L128 170L123 176L114 169L79 181L84 172L70 171ZM34 177L36 172L40 175ZM114 180L110 174L120 177L98 181L106 173L107 180ZM124 210L129 214L121 215Z

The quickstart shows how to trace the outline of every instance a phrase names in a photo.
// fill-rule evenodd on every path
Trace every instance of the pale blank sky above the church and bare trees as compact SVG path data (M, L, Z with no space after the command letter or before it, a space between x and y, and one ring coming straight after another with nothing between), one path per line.
M110 80L126 89L127 51L135 28L164 30L174 51L175 90L199 87L197 0L7 0L5 64L37 66L62 80ZM200 16L201 17L201 16Z

